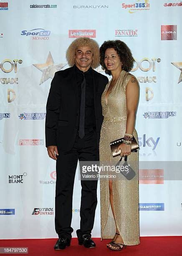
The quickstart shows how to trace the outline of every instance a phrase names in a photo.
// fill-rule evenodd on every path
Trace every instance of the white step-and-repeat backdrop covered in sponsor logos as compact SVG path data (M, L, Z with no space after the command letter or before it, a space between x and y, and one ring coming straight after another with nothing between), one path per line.
M99 45L119 39L131 49L140 85L140 233L182 235L181 13L179 0L0 0L1 239L57 237L46 101L54 73L69 67L66 49L82 36ZM77 167L73 237L80 198ZM100 237L99 185L92 236Z

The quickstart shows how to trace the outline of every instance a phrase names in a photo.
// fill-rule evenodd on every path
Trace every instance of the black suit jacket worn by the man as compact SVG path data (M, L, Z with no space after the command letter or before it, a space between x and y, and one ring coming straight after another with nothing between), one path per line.
M97 143L103 121L101 95L108 78L94 69L94 108ZM46 147L57 146L69 151L73 147L78 129L78 92L74 67L55 73L46 105Z

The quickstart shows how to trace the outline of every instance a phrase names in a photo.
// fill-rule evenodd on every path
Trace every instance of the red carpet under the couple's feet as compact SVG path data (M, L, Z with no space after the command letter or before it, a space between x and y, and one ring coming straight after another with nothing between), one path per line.
M120 253L122 253L122 255L131 256L182 256L181 236L141 237L140 245L127 246L122 251L110 251L105 246L109 240L100 241L100 238L94 238L96 248L88 249L83 246L78 246L77 239L72 238L70 247L61 251L54 251L53 246L56 241L57 239L55 238L0 240L0 247L28 247L28 255L33 256L112 256L120 255Z

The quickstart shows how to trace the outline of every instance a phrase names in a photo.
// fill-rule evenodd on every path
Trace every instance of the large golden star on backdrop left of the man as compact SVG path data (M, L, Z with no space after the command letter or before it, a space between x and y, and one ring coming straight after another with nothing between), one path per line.
M51 52L49 52L46 63L44 64L33 64L34 67L38 68L43 74L40 79L40 84L43 82L46 82L49 78L54 77L55 72L61 70L63 67L65 67L66 64L58 64L54 65L53 57L51 55Z

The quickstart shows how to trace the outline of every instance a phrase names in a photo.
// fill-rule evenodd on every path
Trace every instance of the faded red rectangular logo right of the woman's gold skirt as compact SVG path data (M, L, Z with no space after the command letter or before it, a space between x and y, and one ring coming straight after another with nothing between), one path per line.
M164 169L139 169L139 184L164 184Z

